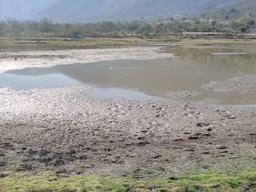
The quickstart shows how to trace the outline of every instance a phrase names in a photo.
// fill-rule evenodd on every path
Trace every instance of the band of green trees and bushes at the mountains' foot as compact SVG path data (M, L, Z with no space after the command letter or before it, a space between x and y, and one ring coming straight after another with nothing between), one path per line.
M254 29L255 22L246 15L236 21L221 23L215 20L158 20L145 23L142 20L103 21L88 23L55 23L44 18L40 22L18 21L5 17L0 21L0 37L123 37L129 34L153 37L159 35L182 35L183 32L246 33Z

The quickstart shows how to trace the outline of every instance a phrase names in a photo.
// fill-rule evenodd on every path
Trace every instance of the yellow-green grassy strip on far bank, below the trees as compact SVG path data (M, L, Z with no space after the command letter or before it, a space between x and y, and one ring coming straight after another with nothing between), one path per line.
M151 46L152 44L199 44L199 45L256 45L252 39L218 39L197 38L186 36L147 38L2 38L0 49L2 51L29 51L29 50L64 50L64 49L92 49L124 46Z

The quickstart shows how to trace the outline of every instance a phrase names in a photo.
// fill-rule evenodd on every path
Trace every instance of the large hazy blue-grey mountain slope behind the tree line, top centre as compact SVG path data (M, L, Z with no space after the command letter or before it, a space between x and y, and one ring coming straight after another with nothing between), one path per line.
M168 17L216 7L232 0L58 0L32 20L48 17L58 22L86 22Z

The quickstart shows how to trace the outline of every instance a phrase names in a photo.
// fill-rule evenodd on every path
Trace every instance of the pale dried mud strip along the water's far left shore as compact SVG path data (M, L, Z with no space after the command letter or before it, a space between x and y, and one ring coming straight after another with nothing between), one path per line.
M0 53L0 73L29 67L53 67L73 63L93 63L121 59L149 60L173 58L171 53L157 52L159 47L123 47L86 50L24 51Z

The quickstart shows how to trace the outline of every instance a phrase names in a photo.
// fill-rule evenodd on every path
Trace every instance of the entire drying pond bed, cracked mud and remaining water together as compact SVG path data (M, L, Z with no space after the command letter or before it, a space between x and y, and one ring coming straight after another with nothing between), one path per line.
M0 59L0 172L147 178L255 166L255 53L173 46Z

